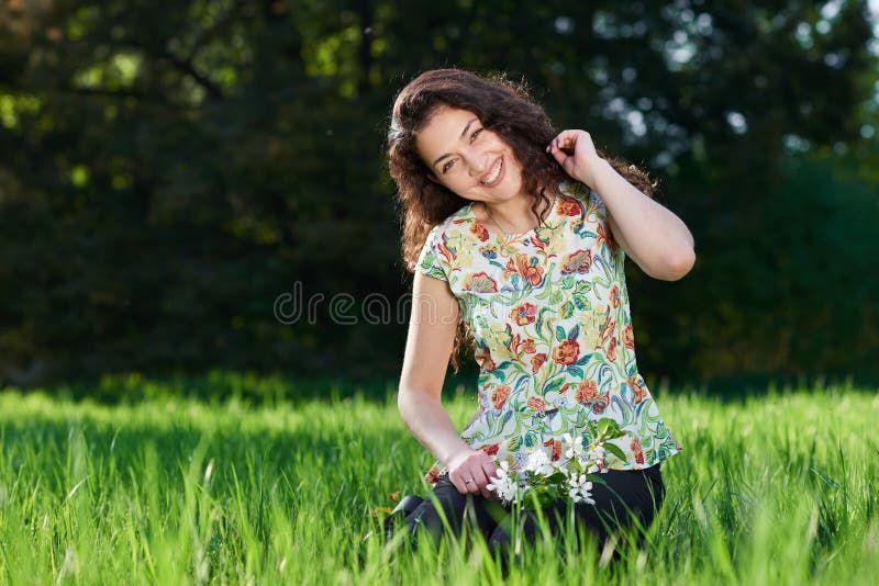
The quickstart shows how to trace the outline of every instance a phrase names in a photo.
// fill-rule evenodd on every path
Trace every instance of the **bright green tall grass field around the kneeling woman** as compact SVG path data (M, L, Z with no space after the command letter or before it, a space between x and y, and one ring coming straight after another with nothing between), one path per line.
M461 391L447 401L458 426L476 408ZM664 466L647 546L623 542L609 563L538 542L508 583L876 583L875 390L654 394L685 452ZM364 541L388 494L426 494L431 457L392 395L337 396L108 406L3 392L0 582L500 583L479 543Z

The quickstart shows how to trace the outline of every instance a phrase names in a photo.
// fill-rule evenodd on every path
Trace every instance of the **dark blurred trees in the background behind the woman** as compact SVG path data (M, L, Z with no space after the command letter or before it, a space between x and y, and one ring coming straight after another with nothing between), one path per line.
M866 1L7 0L0 382L397 376L407 315L365 317L411 286L382 140L396 91L446 66L524 77L690 226L682 281L627 266L645 375L877 381L877 23ZM320 303L282 323L296 283Z

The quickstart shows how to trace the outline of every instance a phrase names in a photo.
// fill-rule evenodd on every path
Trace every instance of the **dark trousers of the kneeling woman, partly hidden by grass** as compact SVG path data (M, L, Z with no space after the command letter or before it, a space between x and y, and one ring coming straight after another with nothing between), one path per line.
M611 470L598 474L604 483L592 483L594 505L578 503L572 505L559 498L542 509L553 536L557 536L566 522L568 507L572 505L575 528L583 527L592 532L599 543L603 543L616 529L624 529L635 519L646 529L658 512L665 496L659 464L645 470ZM460 537L464 525L478 530L488 542L492 555L507 557L511 542L511 507L499 500L489 500L481 495L463 495L455 488L447 475L441 476L433 489L439 502L446 522L455 537ZM426 498L405 519L410 536L416 540L423 533L439 538L445 526L439 512L430 498ZM523 537L533 541L539 533L537 514L523 511Z

